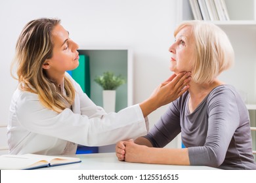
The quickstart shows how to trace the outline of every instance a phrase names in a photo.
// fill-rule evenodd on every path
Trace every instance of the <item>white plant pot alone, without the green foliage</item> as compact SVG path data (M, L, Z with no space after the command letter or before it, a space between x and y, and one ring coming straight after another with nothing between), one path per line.
M103 108L106 112L116 111L116 90L103 90Z

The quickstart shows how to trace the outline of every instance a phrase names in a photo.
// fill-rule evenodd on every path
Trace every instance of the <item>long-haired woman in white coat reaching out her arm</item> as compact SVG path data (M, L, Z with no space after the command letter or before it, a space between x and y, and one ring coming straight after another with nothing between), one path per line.
M139 105L106 114L66 73L79 65L78 45L60 20L29 22L16 44L18 88L10 107L11 154L75 154L146 134L146 116L188 90L190 73L172 75Z

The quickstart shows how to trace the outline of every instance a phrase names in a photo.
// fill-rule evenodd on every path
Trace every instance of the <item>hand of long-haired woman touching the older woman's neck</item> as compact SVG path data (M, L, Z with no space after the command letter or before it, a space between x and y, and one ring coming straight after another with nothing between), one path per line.
M165 82L161 83L146 101L140 103L144 117L157 108L171 103L186 92L191 80L190 75L190 72L182 72L179 75L173 74Z

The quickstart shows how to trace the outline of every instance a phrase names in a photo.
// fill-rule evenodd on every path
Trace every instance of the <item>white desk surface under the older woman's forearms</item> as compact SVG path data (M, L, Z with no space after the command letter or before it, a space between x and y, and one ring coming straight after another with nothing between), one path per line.
M118 161L115 153L77 154L81 163L47 167L45 170L213 170L206 166L155 165Z

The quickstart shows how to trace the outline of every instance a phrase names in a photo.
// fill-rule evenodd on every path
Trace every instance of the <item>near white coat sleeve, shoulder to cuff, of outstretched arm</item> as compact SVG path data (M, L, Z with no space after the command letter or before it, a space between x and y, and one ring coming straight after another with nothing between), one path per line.
M139 105L106 114L96 105L87 106L91 114L75 114L69 108L60 114L43 107L37 95L24 92L16 103L20 124L42 135L57 137L85 146L102 146L146 135L146 124Z

